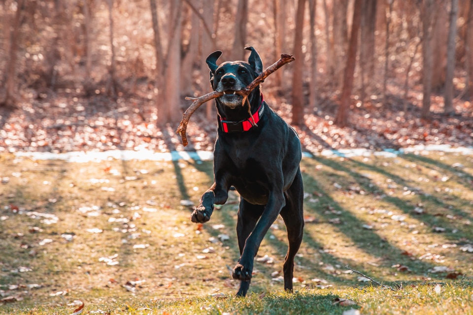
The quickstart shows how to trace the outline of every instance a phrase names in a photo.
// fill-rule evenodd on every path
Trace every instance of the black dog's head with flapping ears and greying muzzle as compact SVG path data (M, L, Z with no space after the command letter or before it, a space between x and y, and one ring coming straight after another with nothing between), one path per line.
M219 50L211 53L206 59L210 69L210 84L213 90L225 93L218 97L218 101L232 109L244 105L242 104L243 97L235 94L235 92L246 88L263 72L263 62L256 49L253 47L246 47L245 49L251 51L248 62L225 62L217 66L217 59L222 55ZM256 94L259 96L259 89L253 90L248 95L250 102Z

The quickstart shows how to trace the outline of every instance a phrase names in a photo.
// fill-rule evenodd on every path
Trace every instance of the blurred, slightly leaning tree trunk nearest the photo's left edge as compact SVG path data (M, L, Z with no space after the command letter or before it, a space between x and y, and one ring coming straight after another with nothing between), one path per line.
M7 77L5 83L5 99L0 103L0 107L16 107L15 97L15 77L16 77L16 60L18 52L18 36L20 34L20 26L22 19L24 0L17 0L17 8L15 17L13 18L13 24L10 27L10 45L8 52L8 67Z

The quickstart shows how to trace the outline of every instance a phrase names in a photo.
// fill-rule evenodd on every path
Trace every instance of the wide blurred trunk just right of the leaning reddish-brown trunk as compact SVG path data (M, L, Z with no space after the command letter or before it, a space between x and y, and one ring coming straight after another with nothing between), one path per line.
M362 97L364 101L367 94L371 94L372 79L374 78L374 31L376 27L376 3L377 0L363 1L363 12L361 16L361 42L360 63L361 63L361 83Z

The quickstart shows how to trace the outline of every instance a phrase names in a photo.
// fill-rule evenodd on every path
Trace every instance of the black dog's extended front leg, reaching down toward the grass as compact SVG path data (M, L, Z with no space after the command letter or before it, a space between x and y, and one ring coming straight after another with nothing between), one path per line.
M233 269L232 278L249 281L253 272L253 260L260 248L261 241L268 232L271 224L277 219L281 209L286 205L282 188L277 192L270 192L268 204L256 223L255 228L246 239L240 260Z

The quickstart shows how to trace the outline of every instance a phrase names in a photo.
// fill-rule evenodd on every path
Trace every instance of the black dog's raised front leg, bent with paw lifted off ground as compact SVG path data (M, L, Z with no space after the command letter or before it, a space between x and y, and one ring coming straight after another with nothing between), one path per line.
M203 193L199 206L191 215L191 221L194 223L209 221L213 212L213 205L223 205L227 202L228 189L229 187L225 180L215 179L212 187Z

